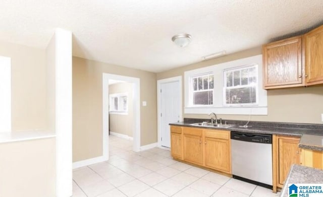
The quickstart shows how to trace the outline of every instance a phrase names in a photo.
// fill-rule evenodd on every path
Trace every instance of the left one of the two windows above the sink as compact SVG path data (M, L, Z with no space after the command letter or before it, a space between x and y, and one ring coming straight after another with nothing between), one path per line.
M208 73L191 78L193 105L213 104L214 75Z

